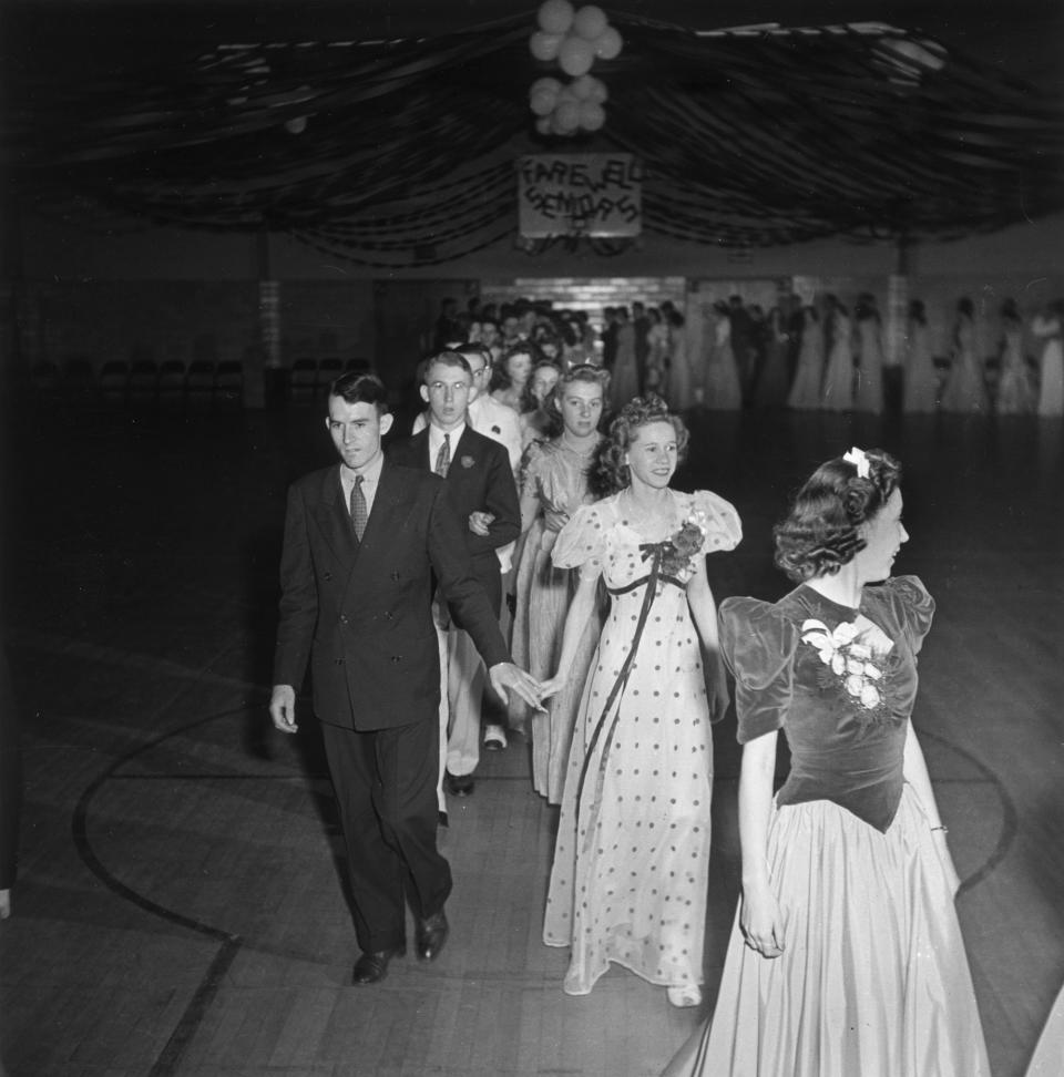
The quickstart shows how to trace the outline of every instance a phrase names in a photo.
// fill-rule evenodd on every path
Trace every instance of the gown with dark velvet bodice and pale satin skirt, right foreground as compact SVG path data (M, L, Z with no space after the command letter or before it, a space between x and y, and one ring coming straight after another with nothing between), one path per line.
M739 740L781 728L791 750L766 849L784 952L747 946L736 915L712 1022L667 1077L989 1077L950 876L903 778L933 611L913 576L866 587L859 612L807 586L722 604ZM822 646L858 614L882 630L863 704L843 680L859 657Z

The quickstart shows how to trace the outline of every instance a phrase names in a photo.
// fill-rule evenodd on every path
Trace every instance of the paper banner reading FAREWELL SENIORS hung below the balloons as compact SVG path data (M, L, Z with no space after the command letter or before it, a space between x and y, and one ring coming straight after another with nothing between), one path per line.
M637 236L643 165L630 153L538 153L518 160L521 235Z

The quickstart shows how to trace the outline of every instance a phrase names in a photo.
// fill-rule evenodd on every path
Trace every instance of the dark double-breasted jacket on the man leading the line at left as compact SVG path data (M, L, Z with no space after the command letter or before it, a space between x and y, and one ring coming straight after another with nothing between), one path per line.
M485 665L509 661L498 603L471 571L466 537L443 480L422 468L385 460L361 542L338 464L295 482L274 684L298 689L309 660L314 709L325 722L368 731L436 721L437 584Z

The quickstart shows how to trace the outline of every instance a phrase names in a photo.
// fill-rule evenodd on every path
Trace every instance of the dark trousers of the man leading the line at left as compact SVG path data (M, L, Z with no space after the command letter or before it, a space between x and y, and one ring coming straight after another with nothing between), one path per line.
M439 728L434 721L357 732L321 724L340 809L355 934L364 951L406 938L405 895L431 916L451 892L436 848Z

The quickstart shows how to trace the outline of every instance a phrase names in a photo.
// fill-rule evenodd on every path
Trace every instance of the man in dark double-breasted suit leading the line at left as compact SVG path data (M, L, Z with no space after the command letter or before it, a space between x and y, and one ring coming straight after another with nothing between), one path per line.
M432 961L447 940L451 872L436 847L439 656L432 624L438 584L502 695L539 705L539 686L510 659L498 611L470 571L441 479L387 461L387 391L347 373L329 393L339 466L288 491L280 619L269 711L295 732L296 689L309 661L314 710L347 845L355 983L381 979L406 952L406 904L416 948Z

